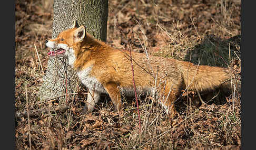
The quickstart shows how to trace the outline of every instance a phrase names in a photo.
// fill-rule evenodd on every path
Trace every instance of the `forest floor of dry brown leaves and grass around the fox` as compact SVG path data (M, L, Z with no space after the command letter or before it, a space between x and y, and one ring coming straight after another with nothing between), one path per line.
M133 51L144 48L150 55L230 67L241 80L240 9L237 0L113 0L107 44L124 49L127 39L132 39ZM140 97L141 132L134 98L124 100L123 117L108 97L93 113L81 114L86 100L82 85L74 94L75 101L66 106L57 98L38 101L48 61L44 42L52 37L53 1L18 0L15 16L17 149L29 149L29 145L32 149L241 148L241 93L235 89L203 105L196 101L196 93L184 91L177 104L179 115L172 120L153 98ZM22 115L27 109L29 119Z

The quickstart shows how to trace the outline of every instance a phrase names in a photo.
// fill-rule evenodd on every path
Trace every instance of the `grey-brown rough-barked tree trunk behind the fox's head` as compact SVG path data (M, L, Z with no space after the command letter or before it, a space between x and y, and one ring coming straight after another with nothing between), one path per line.
M54 0L53 34L56 38L61 31L71 28L73 21L86 27L93 37L106 41L108 1L107 0ZM43 85L38 93L41 100L60 97L77 89L78 78L66 58L49 58ZM67 79L67 83L66 83ZM80 81L78 81L80 82ZM62 101L65 97L62 97Z

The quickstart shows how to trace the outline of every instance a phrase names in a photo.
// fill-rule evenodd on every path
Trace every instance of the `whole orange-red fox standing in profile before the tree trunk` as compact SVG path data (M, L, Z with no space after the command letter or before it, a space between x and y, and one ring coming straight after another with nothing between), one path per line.
M109 94L115 109L122 114L121 95L134 96L130 53L92 38L83 25L74 21L71 29L46 40L50 57L67 57L81 82L88 88L85 111L92 112L101 93ZM166 113L176 114L174 101L181 90L207 91L231 89L228 68L198 66L191 62L132 52L136 90L156 94ZM156 75L157 74L157 75ZM91 93L91 94L90 94Z

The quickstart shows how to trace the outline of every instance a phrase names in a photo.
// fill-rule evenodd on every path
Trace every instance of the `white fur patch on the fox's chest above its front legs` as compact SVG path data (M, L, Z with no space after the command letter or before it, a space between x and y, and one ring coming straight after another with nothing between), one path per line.
M97 81L95 77L90 76L92 67L93 66L83 69L81 71L77 71L77 76L88 89L95 90L100 93L107 93L103 85L99 81Z

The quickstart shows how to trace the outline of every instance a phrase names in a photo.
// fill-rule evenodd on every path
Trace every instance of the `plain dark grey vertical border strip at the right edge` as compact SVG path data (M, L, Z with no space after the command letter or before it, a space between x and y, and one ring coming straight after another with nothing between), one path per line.
M251 2L251 3L249 3ZM254 149L255 23L254 1L241 0L241 149ZM250 21L248 21L250 19ZM251 57L250 57L251 56ZM245 61L245 59L247 61ZM251 83L251 85L249 84Z

